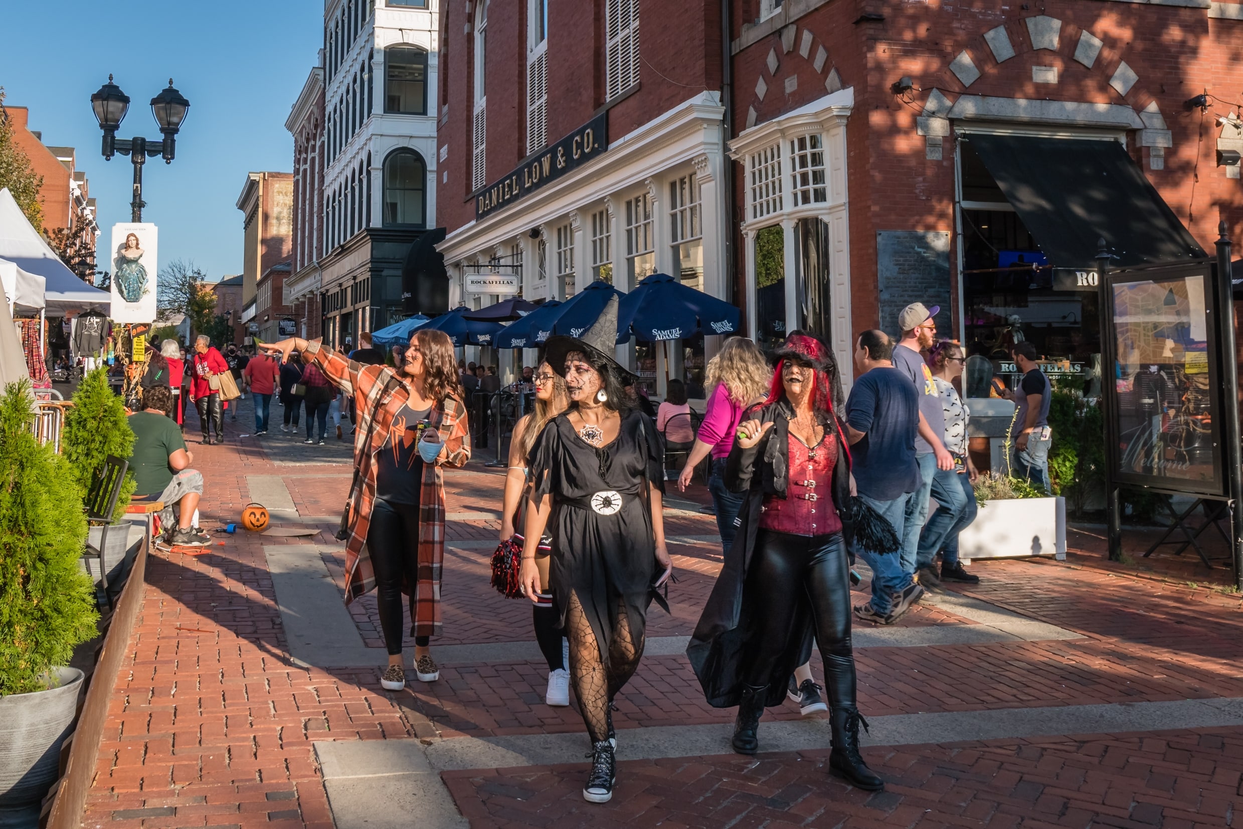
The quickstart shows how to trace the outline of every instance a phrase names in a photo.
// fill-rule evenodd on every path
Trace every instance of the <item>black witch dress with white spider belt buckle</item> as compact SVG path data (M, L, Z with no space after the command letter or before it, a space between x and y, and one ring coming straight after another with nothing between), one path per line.
M566 415L558 415L531 447L531 498L552 495L549 582L564 624L571 593L595 633L608 660L619 603L630 633L641 640L656 562L646 486L665 491L664 461L656 430L638 410L622 413L617 440L599 449L584 441Z

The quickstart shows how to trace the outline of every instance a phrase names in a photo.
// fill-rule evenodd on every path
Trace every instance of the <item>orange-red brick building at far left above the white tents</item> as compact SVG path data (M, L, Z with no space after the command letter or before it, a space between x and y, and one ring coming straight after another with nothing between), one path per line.
M77 152L72 147L44 144L42 133L30 129L30 109L26 107L6 106L2 117L9 119L14 142L30 159L35 174L44 176L44 186L39 191L44 234L76 252L76 261L66 263L78 276L93 277L99 227L86 173L77 169Z

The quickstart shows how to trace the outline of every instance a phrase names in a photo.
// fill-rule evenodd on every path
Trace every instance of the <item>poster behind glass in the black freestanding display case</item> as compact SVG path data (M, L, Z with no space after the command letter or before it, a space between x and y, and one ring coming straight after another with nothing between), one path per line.
M1110 465L1120 483L1223 495L1212 266L1110 276Z

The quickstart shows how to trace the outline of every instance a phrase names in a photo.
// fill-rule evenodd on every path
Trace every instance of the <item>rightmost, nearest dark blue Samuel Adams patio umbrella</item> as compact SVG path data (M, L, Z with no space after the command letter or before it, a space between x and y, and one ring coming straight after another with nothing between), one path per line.
M740 319L741 313L728 302L682 285L667 273L653 273L634 291L623 293L618 307L620 331L654 342L733 333Z

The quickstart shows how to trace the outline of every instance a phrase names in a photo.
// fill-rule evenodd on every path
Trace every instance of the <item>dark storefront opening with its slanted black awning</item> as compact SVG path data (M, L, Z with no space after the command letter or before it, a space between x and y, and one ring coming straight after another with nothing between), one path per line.
M968 355L1014 379L1009 349L1028 341L1050 378L1099 395L1096 240L1105 239L1119 265L1203 251L1117 137L968 132L957 158ZM967 384L967 396L988 396L983 372L968 372Z

